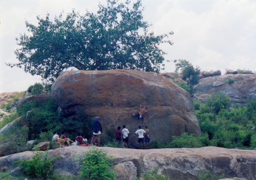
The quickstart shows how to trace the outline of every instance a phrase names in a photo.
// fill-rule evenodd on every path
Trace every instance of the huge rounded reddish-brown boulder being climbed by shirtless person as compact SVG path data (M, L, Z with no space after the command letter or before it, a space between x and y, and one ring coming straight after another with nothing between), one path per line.
M184 132L200 134L188 92L161 74L137 70L66 71L52 85L52 93L66 115L83 111L99 116L104 129L127 125L130 139L141 120L132 117L139 105L145 114L152 140L170 141ZM104 136L104 133L103 133Z

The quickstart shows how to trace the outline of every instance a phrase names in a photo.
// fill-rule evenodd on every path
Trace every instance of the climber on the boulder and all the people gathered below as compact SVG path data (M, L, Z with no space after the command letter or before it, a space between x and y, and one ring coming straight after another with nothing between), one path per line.
M143 114L147 112L147 107L143 107L140 105L139 107L139 113L134 113L132 114L133 117L136 117L138 119L143 120L143 125L147 122L147 120L143 117ZM129 136L128 134L130 133L129 130L126 128L125 125L123 125L123 129L120 130L121 127L118 126L117 130L115 131L116 135L116 140L118 143L121 143L121 140L124 142L124 147L129 147L128 142L129 142ZM87 145L99 145L101 142L100 135L102 134L102 125L100 122L100 118L96 117L92 123L92 131L93 131L93 136L91 139L91 142ZM135 132L135 134L138 136L138 143L139 143L139 148L145 149L144 142L146 143L146 148L150 148L150 136L149 136L149 129L147 126L145 126L145 130L142 129L141 126L139 126L139 129ZM59 139L68 139L64 132L59 136L57 132L53 135L53 141L57 141ZM69 139L70 140L70 139ZM85 143L85 140L82 135L79 135L75 138L75 143L77 145L81 145ZM97 142L96 142L97 141ZM71 141L72 142L72 141ZM87 143L87 140L86 140Z

